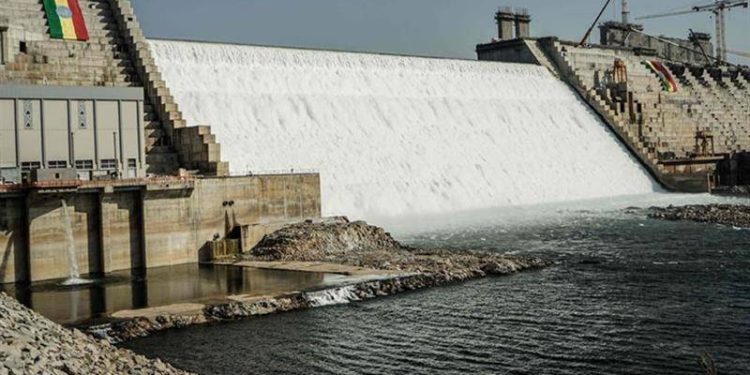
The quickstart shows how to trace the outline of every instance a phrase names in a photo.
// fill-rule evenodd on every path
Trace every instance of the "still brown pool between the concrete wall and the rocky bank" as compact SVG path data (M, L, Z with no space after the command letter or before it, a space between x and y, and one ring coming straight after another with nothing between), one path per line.
M94 323L120 310L220 299L230 294L264 295L315 287L325 275L186 264L151 268L146 273L116 272L90 285L63 287L58 282L31 286L2 285L27 307L62 324Z

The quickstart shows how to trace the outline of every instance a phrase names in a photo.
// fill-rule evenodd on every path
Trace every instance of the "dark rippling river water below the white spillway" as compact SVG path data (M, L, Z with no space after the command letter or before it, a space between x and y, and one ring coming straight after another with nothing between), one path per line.
M750 374L750 231L580 213L407 240L558 264L127 347L202 374Z

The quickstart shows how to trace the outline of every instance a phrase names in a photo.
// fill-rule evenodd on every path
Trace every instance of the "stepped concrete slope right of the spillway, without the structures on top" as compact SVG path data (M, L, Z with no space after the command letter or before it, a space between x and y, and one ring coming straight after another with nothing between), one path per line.
M746 69L687 65L555 38L523 42L541 45L554 61L545 65L576 88L669 189L708 191L737 178L727 178L721 165L750 150ZM646 61L663 63L677 90L662 89Z

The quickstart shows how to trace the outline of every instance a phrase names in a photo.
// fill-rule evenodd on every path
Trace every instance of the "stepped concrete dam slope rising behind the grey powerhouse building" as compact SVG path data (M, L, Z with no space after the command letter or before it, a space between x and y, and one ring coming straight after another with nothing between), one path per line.
M37 0L0 2L0 86L78 86L91 92L95 87L139 87L145 171L175 175L184 168L201 175L226 175L228 167L220 160L210 128L188 128L182 119L130 3L78 1L90 36L85 42L51 39Z

